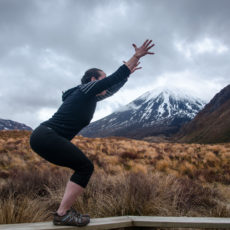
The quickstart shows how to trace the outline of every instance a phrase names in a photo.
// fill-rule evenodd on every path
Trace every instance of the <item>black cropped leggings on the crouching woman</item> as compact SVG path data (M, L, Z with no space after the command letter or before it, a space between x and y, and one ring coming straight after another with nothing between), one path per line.
M60 136L53 129L39 125L30 136L34 152L47 161L73 169L70 181L85 188L94 171L90 159L72 142Z

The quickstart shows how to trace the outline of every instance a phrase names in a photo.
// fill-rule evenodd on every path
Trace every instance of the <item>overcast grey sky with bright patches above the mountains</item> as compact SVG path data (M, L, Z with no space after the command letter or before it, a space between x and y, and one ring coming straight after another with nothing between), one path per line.
M228 0L0 0L0 118L34 129L87 69L108 76L145 39L155 55L92 121L160 87L208 102L230 80L229 15Z

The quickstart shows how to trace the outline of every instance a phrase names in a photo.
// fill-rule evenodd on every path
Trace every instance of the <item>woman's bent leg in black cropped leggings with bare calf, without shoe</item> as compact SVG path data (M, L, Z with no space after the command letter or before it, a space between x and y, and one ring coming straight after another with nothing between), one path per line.
M57 210L59 215L64 215L86 188L94 171L94 165L72 142L44 126L34 130L30 137L30 145L49 162L74 170Z

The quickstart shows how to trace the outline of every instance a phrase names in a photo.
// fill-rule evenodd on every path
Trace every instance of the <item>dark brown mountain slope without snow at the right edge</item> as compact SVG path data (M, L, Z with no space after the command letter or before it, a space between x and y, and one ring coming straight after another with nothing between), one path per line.
M223 88L175 138L183 142L230 141L230 85Z

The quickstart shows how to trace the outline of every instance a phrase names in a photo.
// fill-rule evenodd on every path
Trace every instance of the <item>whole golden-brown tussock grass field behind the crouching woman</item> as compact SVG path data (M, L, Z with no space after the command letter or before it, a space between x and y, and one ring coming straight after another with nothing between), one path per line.
M0 132L0 224L51 221L71 169L43 160L30 131ZM120 215L230 217L230 143L149 143L85 138L95 172L74 207L91 218Z

